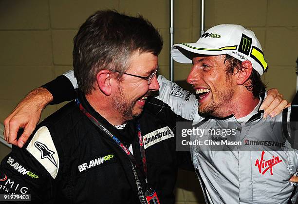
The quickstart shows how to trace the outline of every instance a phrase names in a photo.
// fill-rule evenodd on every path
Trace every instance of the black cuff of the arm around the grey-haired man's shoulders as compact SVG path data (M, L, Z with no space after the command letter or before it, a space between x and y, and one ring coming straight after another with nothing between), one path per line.
M46 88L53 95L53 102L50 104L71 101L75 99L75 89L77 88L74 71L70 70L41 87Z

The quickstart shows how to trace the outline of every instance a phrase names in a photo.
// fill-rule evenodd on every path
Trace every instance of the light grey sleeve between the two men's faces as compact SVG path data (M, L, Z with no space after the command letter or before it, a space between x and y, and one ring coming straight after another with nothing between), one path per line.
M172 111L187 120L193 120L198 115L198 102L195 95L184 90L175 82L168 81L162 75L158 76L157 81L160 86L157 99L167 103Z

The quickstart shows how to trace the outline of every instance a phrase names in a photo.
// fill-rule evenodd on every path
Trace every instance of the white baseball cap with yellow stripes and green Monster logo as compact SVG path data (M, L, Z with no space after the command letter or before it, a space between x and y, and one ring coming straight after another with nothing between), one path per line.
M193 54L228 54L240 61L248 60L260 75L268 67L254 32L241 25L216 25L208 29L197 42L174 44L171 48L173 60L180 63L192 63Z

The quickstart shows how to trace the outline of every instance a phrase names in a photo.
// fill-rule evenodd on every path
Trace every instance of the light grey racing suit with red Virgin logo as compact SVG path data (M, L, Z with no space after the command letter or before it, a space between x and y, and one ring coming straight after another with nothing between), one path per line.
M65 76L76 86L71 72ZM193 94L163 76L158 76L158 82L160 94L157 98L167 103L176 114L193 120L202 129L235 129L233 141L243 144L190 146L207 204L296 203L296 184L289 179L297 173L298 151L286 139L291 134L285 133L281 127L282 113L263 120L262 113L257 110L248 122L241 123L234 117L225 120L202 118ZM178 132L176 134L180 137ZM191 136L190 141L202 138L211 141L222 139L204 135L201 138Z

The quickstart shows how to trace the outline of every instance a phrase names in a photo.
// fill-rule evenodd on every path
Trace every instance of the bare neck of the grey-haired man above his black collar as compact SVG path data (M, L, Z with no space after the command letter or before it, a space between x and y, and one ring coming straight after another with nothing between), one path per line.
M103 94L94 94L93 92L91 94L86 94L85 96L93 109L112 125L121 125L126 122L119 112L111 108L111 102L109 102L107 97Z

